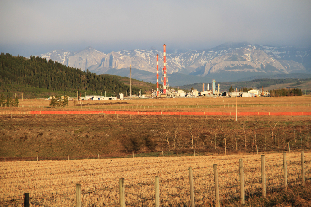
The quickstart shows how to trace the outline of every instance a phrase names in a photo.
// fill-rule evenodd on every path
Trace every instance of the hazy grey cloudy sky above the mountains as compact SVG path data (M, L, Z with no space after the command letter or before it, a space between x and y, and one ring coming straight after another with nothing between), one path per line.
M311 1L0 1L0 52L311 46Z

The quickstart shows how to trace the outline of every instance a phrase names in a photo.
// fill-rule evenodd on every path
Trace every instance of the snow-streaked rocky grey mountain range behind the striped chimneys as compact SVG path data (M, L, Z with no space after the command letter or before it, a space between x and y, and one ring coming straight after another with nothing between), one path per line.
M311 48L270 47L252 45L248 42L227 42L207 50L172 50L172 53L166 54L166 66L168 73L179 72L203 77L223 73L227 75L310 73L310 53ZM128 68L129 65L132 65L132 68L156 73L157 54L161 71L163 52L154 47L150 50L121 50L109 54L87 47L77 52L53 50L38 56L70 67L103 74Z

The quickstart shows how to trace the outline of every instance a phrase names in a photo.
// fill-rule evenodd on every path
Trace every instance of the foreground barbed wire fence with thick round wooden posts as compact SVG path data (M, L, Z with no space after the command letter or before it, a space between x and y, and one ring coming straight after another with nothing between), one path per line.
M120 180L85 182L32 194L1 198L1 206L223 206L254 196L305 185L310 180L311 152L283 153L210 167L189 167ZM230 177L228 178L228 175ZM186 185L188 183L189 185ZM158 188L157 188L158 186ZM126 193L125 193L126 192ZM81 199L82 198L82 199Z

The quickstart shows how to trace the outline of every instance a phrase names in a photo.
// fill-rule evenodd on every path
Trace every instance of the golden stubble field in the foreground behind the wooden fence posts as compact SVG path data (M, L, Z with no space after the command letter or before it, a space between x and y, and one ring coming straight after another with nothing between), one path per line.
M311 152L305 152L306 182L311 176ZM267 194L283 186L281 153L265 155ZM246 200L261 194L260 155L210 155L69 161L2 162L0 205L75 206L75 184L81 184L82 206L118 206L119 178L125 178L126 206L154 206L154 176L160 178L160 205L189 206L188 167L193 168L196 206L211 206L213 164L218 165L221 206L239 200L238 159L244 160ZM287 154L288 183L301 183L300 152Z

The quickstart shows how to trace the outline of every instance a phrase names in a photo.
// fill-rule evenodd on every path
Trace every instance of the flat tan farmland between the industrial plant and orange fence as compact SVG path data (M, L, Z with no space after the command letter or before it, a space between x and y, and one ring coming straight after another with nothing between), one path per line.
M124 104L123 104L124 103ZM78 104L75 105L75 104ZM105 104L105 105L104 105ZM108 105L107 105L108 104ZM235 112L236 98L164 98L110 100L110 101L69 101L69 107L49 107L49 101L42 99L19 100L19 108L0 108L0 111L37 110L118 110L118 111L188 111L188 112ZM309 112L311 97L239 97L238 112Z

